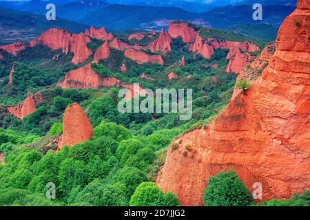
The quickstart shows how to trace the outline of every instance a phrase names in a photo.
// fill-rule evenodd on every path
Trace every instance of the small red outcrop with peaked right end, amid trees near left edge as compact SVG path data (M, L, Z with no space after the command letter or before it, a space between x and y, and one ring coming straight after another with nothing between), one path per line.
M23 102L8 107L10 114L14 115L16 118L23 119L30 115L37 109L37 104L32 96L28 96Z

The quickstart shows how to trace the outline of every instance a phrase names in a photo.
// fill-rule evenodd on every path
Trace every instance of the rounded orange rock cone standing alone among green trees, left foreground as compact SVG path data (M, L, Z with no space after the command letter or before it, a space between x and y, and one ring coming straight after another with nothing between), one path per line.
M79 104L72 104L65 109L63 115L63 134L59 142L59 150L63 146L74 146L92 138L94 130L87 115Z

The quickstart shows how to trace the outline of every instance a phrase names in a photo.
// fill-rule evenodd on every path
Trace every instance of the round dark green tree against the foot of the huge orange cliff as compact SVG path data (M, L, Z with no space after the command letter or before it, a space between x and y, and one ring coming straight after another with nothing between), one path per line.
M205 206L247 206L251 194L234 171L224 171L210 177L203 201Z

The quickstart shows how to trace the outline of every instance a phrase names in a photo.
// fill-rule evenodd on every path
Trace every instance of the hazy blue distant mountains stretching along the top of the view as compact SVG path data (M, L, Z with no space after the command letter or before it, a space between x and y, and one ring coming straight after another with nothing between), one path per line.
M48 2L55 3L56 6L56 22L43 21L44 14L46 13L45 5ZM114 4L114 3L122 4ZM211 4L203 4L202 1L141 1L141 0L54 0L54 1L0 1L0 7L14 8L16 10L23 10L36 15L32 17L32 21L36 23L29 23L30 19L23 19L30 17L30 14L19 14L14 11L12 14L6 12L1 19L0 30L6 32L10 26L5 25L10 19L11 28L30 27L24 28L19 32L33 31L32 36L48 28L50 26L67 26L70 31L83 29L85 26L94 25L96 27L105 27L110 32L124 32L125 30L160 30L167 28L167 25L173 20L183 20L196 23L205 27L221 28L233 30L240 34L247 34L254 37L259 37L265 40L275 39L278 26L290 14L295 7L296 1L265 1L255 0L264 5L263 7L263 20L254 21L252 14L252 3L254 0L235 1L234 5L225 5L214 8L219 4L227 4L229 1L213 1ZM240 5L240 3L247 3L247 5ZM124 5L126 4L126 5ZM138 4L138 5L130 5ZM277 4L277 5L272 5ZM155 6L154 6L155 5ZM184 7L183 7L183 6ZM185 7L187 5L187 8ZM189 12L187 10L195 11L192 5L200 5L200 10L208 10L203 13ZM178 6L178 7L175 7ZM183 10L186 8L187 10ZM3 10L2 10L3 11ZM196 10L197 11L197 10ZM22 13L22 12L21 12ZM20 17L19 17L20 16ZM12 18L10 18L12 17ZM34 19L36 18L36 19ZM70 21L64 21L67 19ZM83 25L79 25L81 23ZM74 28L74 26L76 28ZM39 27L39 28L38 28ZM257 27L258 30L266 28L265 34L260 34L258 31L249 31L248 28ZM73 29L72 29L73 28ZM234 31L234 30L233 30ZM17 32L12 31L10 32ZM31 35L31 34L30 34ZM265 36L264 36L265 35ZM11 35L12 36L12 35ZM16 34L13 38L18 39L24 34Z

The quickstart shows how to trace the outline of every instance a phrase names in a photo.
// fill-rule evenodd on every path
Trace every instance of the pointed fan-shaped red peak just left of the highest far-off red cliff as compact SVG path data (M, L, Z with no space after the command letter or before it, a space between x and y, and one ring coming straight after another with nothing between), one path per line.
M161 30L161 34L159 34L158 38L152 41L147 45L147 48L151 50L151 52L162 51L164 54L167 54L171 50L170 43L172 42L172 37L165 32L165 30Z

